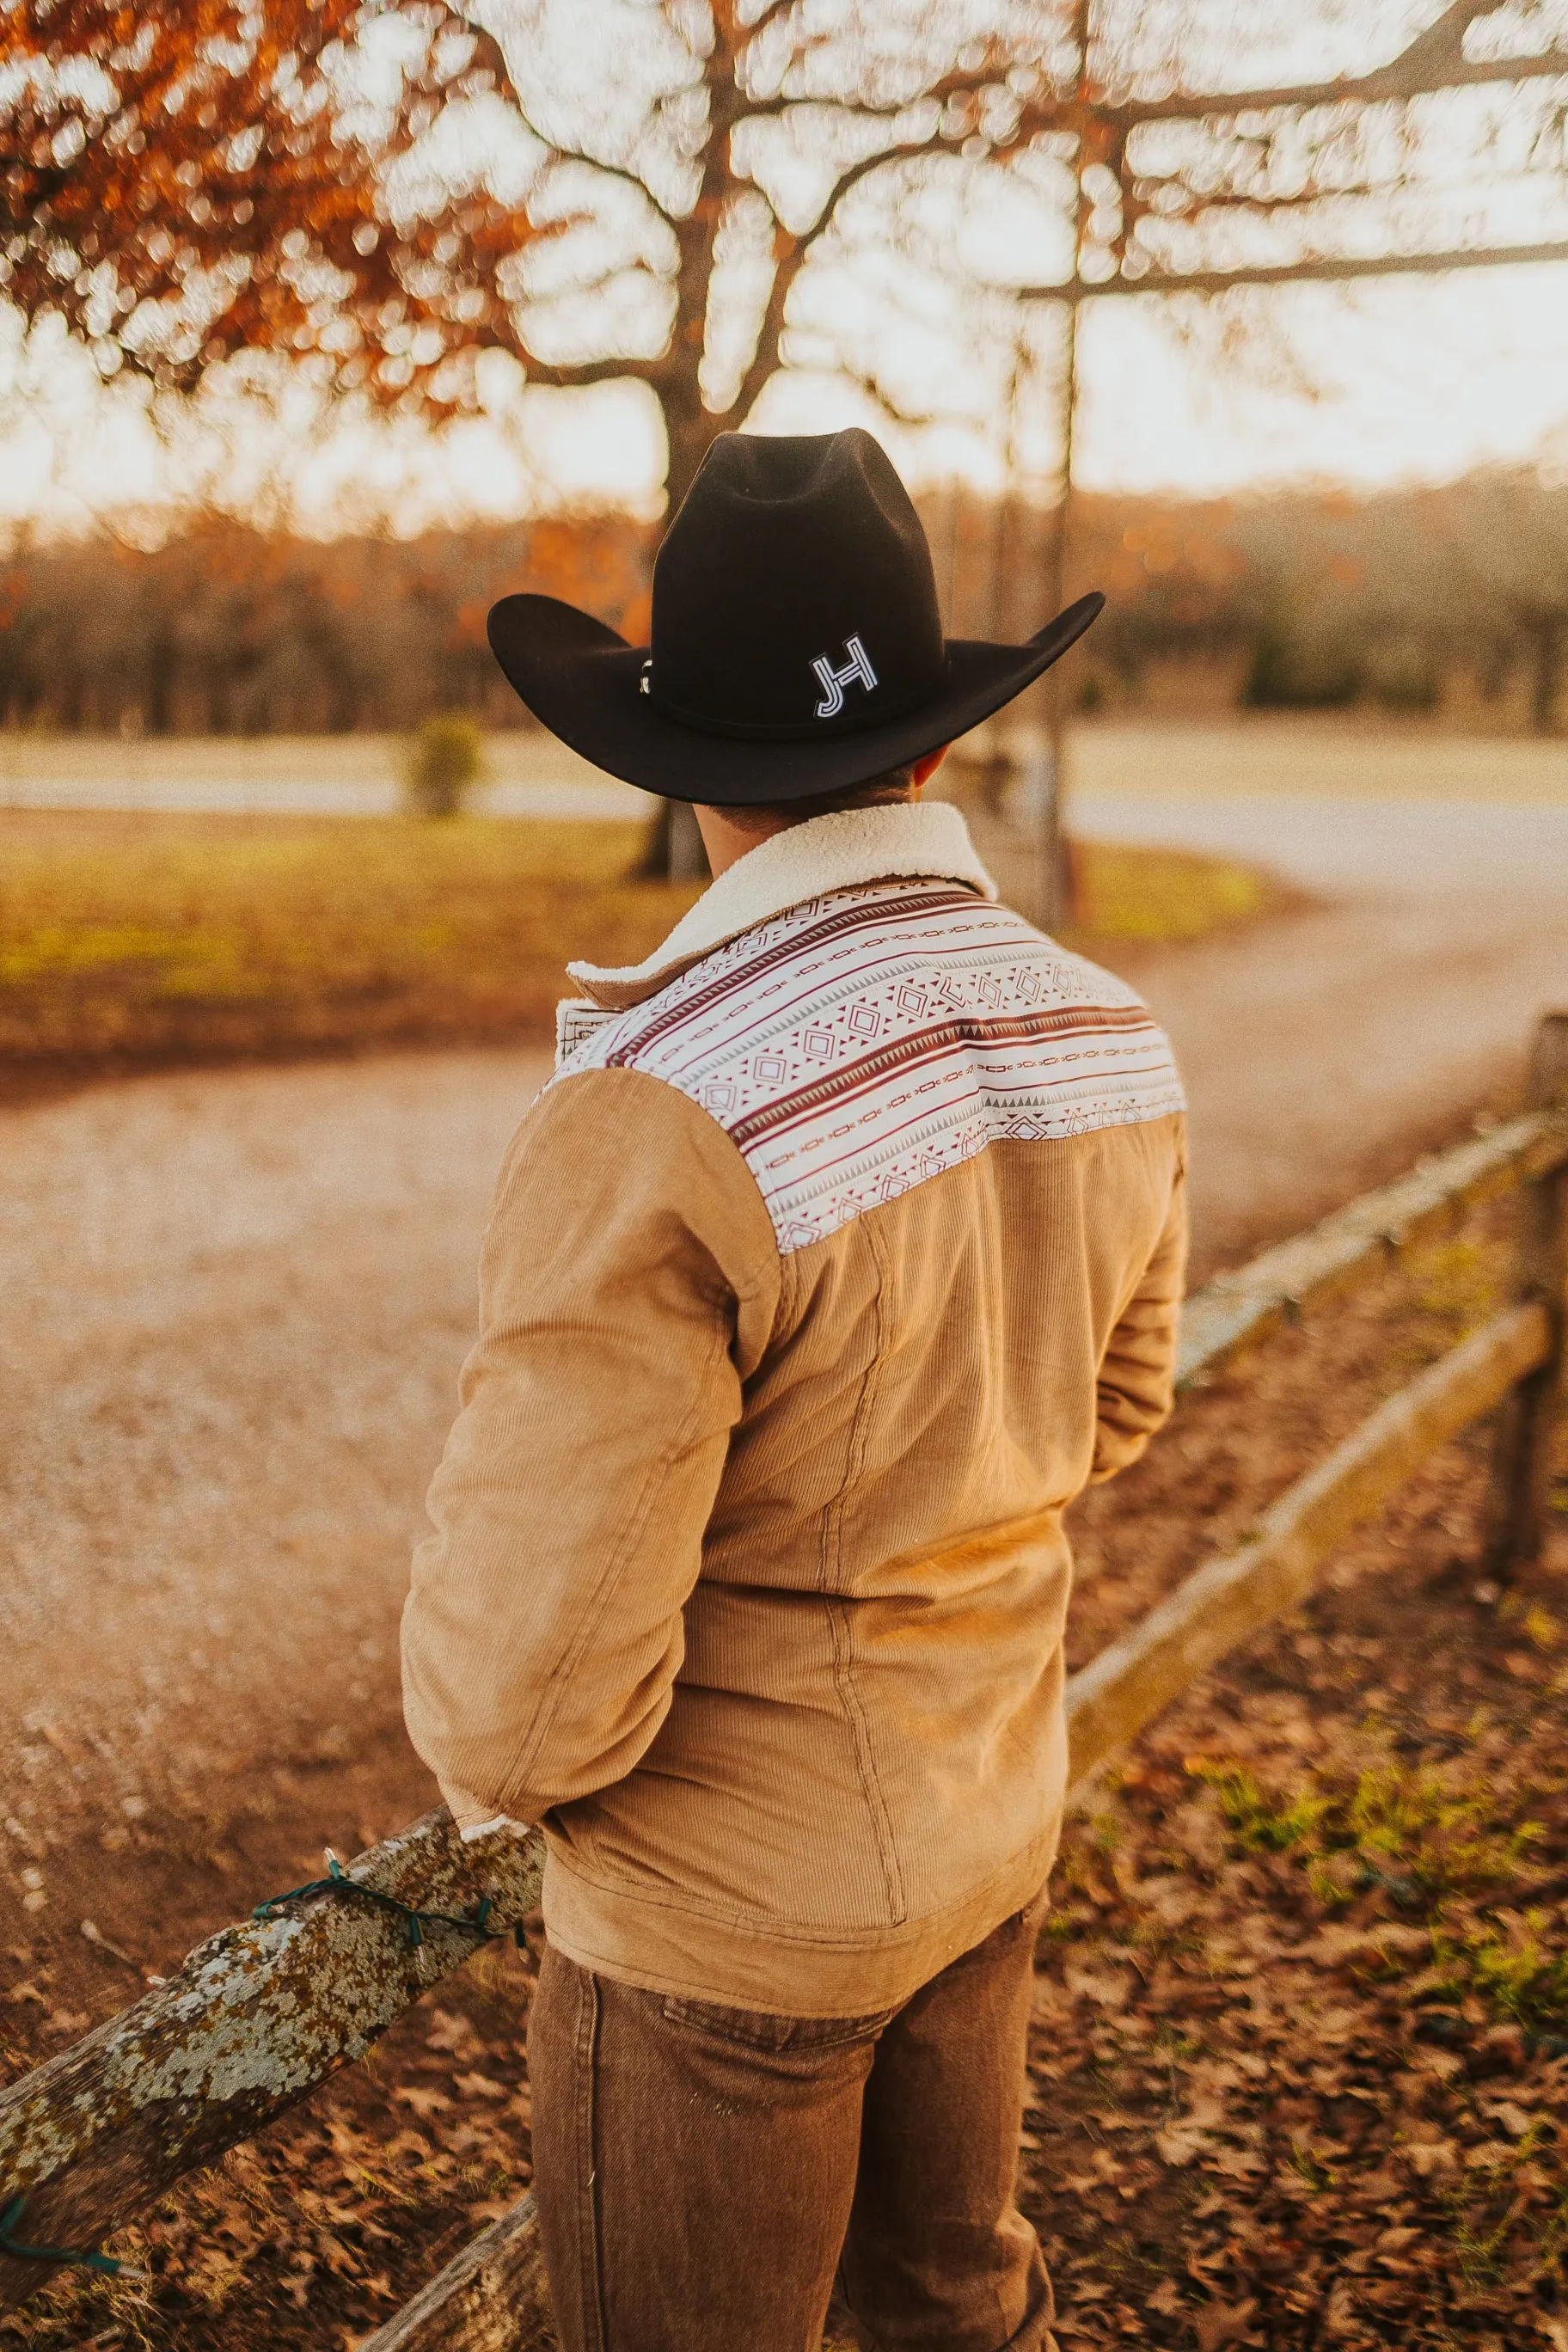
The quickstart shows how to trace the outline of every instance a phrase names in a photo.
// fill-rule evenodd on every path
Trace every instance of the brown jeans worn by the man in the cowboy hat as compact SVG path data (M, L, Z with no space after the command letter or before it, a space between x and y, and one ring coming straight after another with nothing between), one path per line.
M778 2018L548 1950L534 2164L564 2352L1051 2352L1013 2204L1039 1905L903 2009Z

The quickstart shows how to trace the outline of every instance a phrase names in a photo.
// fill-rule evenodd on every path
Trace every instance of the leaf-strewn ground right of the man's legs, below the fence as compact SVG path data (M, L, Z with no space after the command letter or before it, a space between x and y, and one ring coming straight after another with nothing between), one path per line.
M1568 1675L1512 1665L1568 1526L1476 1599L1483 1491L1472 1432L1070 1825L1025 2147L1067 2352L1568 2340Z

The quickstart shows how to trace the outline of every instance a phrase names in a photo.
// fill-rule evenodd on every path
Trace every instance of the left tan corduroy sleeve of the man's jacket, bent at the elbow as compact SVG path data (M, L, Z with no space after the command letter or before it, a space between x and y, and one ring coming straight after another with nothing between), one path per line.
M409 1736L458 1828L538 1820L654 1740L776 1298L773 1228L708 1112L637 1070L545 1089L402 1618Z

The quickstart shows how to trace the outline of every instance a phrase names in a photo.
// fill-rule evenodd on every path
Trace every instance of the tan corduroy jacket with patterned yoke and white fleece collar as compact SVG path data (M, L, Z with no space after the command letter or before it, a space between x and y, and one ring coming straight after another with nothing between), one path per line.
M903 2002L1041 1884L1063 1510L1171 1406L1182 1098L943 804L764 842L574 967L404 1613L458 1823L632 1985Z

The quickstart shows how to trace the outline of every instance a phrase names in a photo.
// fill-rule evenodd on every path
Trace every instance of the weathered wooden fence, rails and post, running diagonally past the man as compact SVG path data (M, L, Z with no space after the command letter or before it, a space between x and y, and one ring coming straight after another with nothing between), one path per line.
M1072 1780L1314 1583L1345 1534L1448 1437L1505 1406L1490 1559L1540 1543L1547 1458L1563 1390L1568 1287L1568 1014L1540 1028L1533 1110L1476 1143L1352 1202L1187 1301L1180 1381L1232 1362L1284 1319L1366 1282L1479 1200L1523 1188L1519 1298L1420 1374L1309 1470L1237 1552L1197 1569L1140 1625L1067 1684ZM197 1945L167 1985L0 2093L0 2204L26 2194L31 2244L96 2244L183 2173L284 2114L477 1945L538 1900L534 1835L487 1851L473 1877L444 1811L371 1846L348 1879L393 1905L444 1915L411 1943L407 1915L350 1891L289 1905ZM0 2310L45 2284L42 2265L0 2253ZM548 2352L534 2204L484 2230L362 2352Z

